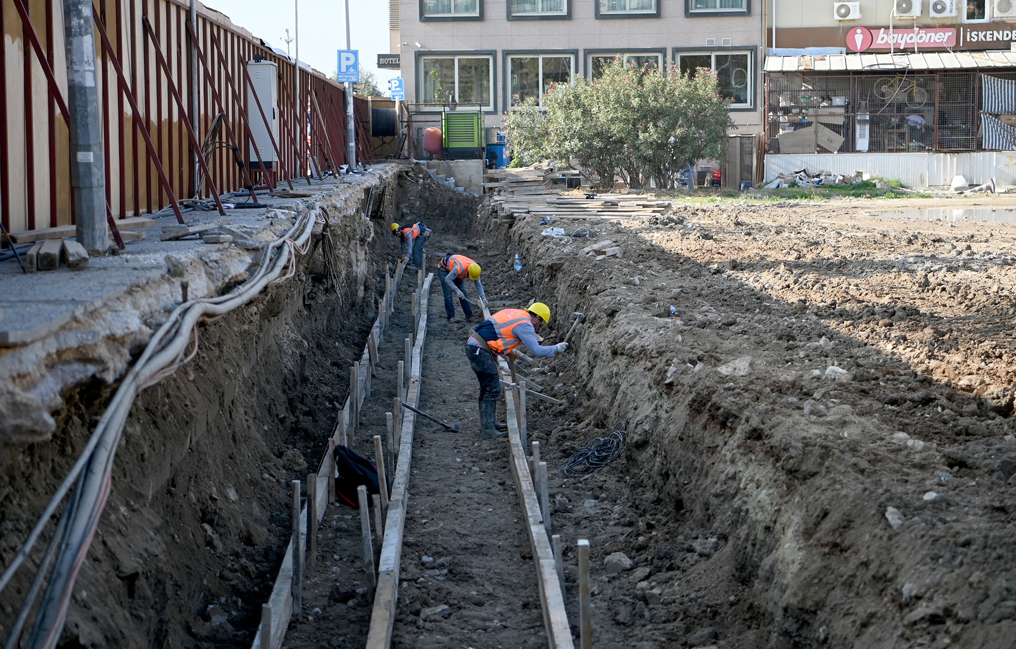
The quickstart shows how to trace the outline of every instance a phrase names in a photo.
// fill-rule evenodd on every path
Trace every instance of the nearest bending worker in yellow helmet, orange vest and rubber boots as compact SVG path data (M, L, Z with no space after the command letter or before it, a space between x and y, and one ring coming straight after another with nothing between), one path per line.
M554 356L568 348L567 342L544 346L536 330L551 319L551 310L542 302L528 309L502 309L479 325L465 343L469 367L480 381L480 437L490 440L508 435L508 427L494 420L501 396L501 382L495 356L505 356L521 342L534 356Z

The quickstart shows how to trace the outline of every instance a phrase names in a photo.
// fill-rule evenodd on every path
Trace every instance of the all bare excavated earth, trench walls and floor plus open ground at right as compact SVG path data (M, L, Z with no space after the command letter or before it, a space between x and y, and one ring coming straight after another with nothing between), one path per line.
M524 407L549 469L575 646L580 538L596 647L1012 645L1011 225L893 218L864 202L677 199L664 215L574 220L561 226L585 237L546 237L533 217L501 221L491 198L407 170L384 172L371 205L359 191L307 201L329 221L294 275L202 324L193 361L139 393L59 646L258 646L292 480L306 489L343 414L398 256L392 220L435 231L428 273L458 252L482 265L495 305L550 305L549 342L584 314L567 351L519 366L564 402ZM580 254L608 240L621 255ZM419 285L406 271L354 433L371 458ZM446 322L436 276L426 302L418 404L459 431L416 417L391 645L550 646L508 441L479 436L462 345L480 319ZM8 441L4 566L143 338L121 332L46 361L123 356L60 394L50 439ZM585 477L560 470L622 424L616 461ZM376 606L359 513L329 505L317 531L282 646L367 646ZM29 580L18 573L3 592L4 636Z

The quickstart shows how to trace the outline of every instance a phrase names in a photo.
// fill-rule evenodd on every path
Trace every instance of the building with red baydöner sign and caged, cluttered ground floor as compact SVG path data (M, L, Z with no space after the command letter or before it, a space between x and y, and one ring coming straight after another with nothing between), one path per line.
M778 0L766 37L767 178L1016 184L1013 0Z

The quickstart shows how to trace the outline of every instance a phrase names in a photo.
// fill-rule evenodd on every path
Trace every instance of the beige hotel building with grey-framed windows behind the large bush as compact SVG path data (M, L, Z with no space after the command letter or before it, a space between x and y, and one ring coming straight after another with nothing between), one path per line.
M519 99L605 61L716 70L732 135L762 132L759 0L389 0L415 124L457 110L503 125ZM591 134L590 134L591 135ZM751 139L755 141L754 138Z

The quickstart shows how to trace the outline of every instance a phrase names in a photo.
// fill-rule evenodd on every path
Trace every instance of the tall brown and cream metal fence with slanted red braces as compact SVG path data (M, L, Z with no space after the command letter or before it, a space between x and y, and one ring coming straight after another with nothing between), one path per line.
M169 205L171 194L182 199L198 193L196 165L183 123L195 117L190 109L195 86L188 4L185 0L96 0L93 4L106 196L111 213L119 218L160 211ZM202 183L199 195L208 197L211 186L234 191L251 181L272 182L261 175L248 180L252 160L248 159L244 117L261 117L256 107L247 106L244 71L246 62L255 57L278 65L280 160L276 180L309 174L311 156L314 168L322 172L344 165L344 88L303 66L300 96L295 98L295 66L284 54L225 15L198 7L196 45L197 57L202 59L196 77L198 140L204 142L216 116L224 116L206 156L212 182ZM145 20L150 34L146 34ZM103 46L100 27L108 37L108 48ZM5 37L0 47L0 218L15 233L73 223L69 140L62 105L67 92L62 3L2 2L0 34ZM181 95L182 108L173 96L171 81ZM138 109L136 116L131 100ZM301 114L307 119L298 120ZM355 116L358 158L369 160L366 100L355 100ZM298 142L305 145L298 146Z

